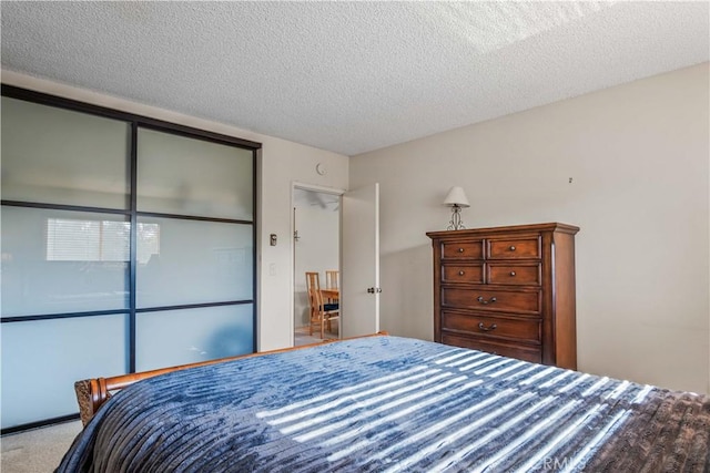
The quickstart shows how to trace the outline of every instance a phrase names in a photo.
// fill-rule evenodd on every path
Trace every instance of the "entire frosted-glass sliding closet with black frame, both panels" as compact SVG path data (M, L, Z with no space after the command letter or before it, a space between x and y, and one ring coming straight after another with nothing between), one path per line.
M2 432L77 380L255 350L258 143L2 88Z

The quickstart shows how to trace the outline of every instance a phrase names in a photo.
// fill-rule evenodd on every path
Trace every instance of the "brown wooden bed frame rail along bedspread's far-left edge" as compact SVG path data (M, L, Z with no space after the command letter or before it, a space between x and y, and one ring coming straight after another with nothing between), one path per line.
M366 335L362 337L324 340L317 343L302 345L302 346L292 347L292 348L282 348L278 350L261 351L256 353L240 354L237 357L219 358L216 360L200 361L196 363L189 363L189 364L180 364L175 367L161 368L159 370L121 374L121 376L111 377L111 378L91 378L91 379L80 380L74 383L74 392L77 393L77 402L79 403L79 415L81 417L81 423L83 425L87 425L91 420L91 418L93 418L93 414L97 413L97 411L101 408L101 405L103 405L103 403L106 402L113 393L133 384L136 381L141 381L148 378L153 378L160 374L170 373L172 371L186 370L189 368L204 367L207 364L222 363L224 361L240 360L243 358L261 357L263 354L283 353L286 351L294 351L294 350L301 350L303 348L318 347L326 343L352 340L355 338L383 337L387 335L388 333L386 331L379 331L377 333Z

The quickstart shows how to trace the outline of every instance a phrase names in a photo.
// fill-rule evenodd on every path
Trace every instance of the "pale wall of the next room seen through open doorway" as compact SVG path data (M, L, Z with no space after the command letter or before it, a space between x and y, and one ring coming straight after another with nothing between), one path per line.
M325 287L325 271L338 269L339 228L341 214L336 205L296 205L296 229L300 239L294 244L294 327L306 327L310 321L311 304L305 273L320 273L321 286Z

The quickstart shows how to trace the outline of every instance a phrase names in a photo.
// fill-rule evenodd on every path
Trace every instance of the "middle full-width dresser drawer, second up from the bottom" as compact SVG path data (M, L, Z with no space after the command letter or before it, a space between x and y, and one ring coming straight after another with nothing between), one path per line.
M474 312L442 311L442 329L475 333L483 338L503 337L539 343L540 319L500 317Z

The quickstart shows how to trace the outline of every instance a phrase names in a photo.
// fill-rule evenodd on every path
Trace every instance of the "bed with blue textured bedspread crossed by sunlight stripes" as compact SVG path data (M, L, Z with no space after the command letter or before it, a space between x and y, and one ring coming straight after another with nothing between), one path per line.
M59 472L710 471L710 397L407 338L128 384Z

